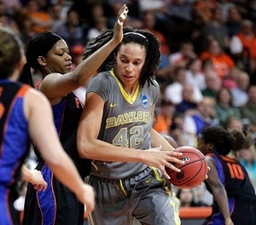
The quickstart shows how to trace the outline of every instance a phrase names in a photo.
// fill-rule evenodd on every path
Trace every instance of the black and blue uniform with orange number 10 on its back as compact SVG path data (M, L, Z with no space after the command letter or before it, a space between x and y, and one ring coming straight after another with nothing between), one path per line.
M256 224L256 195L247 171L236 159L224 157L218 153L214 153L213 159L218 177L228 195L232 221L234 224ZM218 221L220 211L216 202L212 211L214 215L212 221Z

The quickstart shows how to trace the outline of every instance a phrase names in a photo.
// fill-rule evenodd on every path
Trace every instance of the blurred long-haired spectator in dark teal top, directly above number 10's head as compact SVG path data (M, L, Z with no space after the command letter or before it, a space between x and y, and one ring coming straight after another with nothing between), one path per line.
M224 87L218 90L215 111L218 124L222 127L224 127L224 124L229 117L241 119L239 108L234 107L232 104L232 94L230 89Z

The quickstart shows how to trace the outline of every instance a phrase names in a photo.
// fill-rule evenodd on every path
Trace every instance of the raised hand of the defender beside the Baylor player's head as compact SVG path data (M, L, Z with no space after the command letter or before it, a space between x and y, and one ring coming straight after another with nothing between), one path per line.
M119 13L117 15L117 19L114 24L114 31L113 31L113 40L120 43L123 39L123 24L125 19L127 18L128 14L128 8L124 4L123 7L119 10Z

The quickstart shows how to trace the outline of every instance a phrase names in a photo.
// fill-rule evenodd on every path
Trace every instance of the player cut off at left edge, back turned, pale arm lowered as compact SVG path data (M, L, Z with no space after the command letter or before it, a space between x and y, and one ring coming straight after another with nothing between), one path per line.
M4 225L20 224L14 208L16 186L31 139L55 177L86 204L88 211L95 205L92 187L84 184L61 147L49 101L37 90L16 82L24 62L20 39L0 27L0 224Z

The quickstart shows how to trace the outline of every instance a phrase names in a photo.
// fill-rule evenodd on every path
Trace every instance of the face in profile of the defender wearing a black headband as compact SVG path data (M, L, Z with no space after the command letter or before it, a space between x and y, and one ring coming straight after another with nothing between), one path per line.
M67 43L59 40L55 46L49 50L45 61L50 72L59 72L61 74L71 72L72 57L69 55Z

